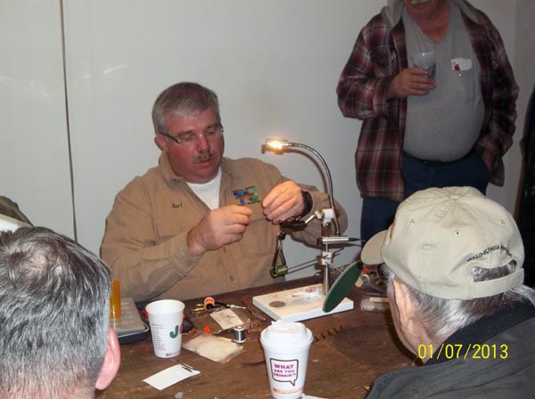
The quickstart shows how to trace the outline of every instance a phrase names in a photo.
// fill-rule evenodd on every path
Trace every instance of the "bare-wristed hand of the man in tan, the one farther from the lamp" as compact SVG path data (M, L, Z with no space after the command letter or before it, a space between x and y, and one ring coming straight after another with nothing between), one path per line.
M213 209L187 233L187 248L193 256L242 240L251 223L251 208L228 205Z

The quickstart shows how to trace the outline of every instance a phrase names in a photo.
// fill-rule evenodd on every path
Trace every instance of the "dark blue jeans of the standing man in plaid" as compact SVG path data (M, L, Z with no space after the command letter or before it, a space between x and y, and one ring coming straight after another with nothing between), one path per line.
M403 154L401 172L405 180L405 198L430 187L472 186L483 194L490 181L489 169L476 151L454 162L428 162ZM364 197L360 219L360 238L369 240L387 229L396 215L399 202Z

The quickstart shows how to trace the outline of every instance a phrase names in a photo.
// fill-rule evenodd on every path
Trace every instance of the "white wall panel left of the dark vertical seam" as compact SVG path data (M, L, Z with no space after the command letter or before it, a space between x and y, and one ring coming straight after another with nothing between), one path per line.
M57 1L0 2L0 195L73 236Z

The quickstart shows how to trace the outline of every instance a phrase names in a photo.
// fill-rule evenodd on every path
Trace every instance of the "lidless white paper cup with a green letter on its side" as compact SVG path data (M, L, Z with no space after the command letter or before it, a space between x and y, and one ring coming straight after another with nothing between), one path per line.
M152 346L158 357L175 357L182 346L182 319L185 305L174 299L151 302L145 310L151 324Z

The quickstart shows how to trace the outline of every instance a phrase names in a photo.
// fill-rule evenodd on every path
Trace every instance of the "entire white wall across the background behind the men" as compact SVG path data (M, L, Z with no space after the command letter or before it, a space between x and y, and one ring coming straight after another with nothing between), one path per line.
M335 197L350 215L347 233L358 237L361 199L355 183L353 153L360 122L342 118L335 87L358 31L385 3L63 2L78 240L98 251L115 194L134 175L156 164L152 102L165 87L182 80L198 81L218 93L227 156L258 157L275 164L284 175L323 187L320 173L309 159L299 154L262 154L260 147L268 136L277 134L320 151L331 167ZM516 9L517 3L518 7L522 4L531 8L531 19ZM12 67L6 70L4 62L0 63L0 102L8 104L8 111L2 107L0 126L10 134L10 144L4 145L4 134L0 139L1 165L22 163L13 174L2 174L2 193L17 200L37 224L72 235L58 1L4 0L0 4L0 49L13 60ZM517 78L523 75L518 79L523 92L531 92L532 77L530 80L524 75L532 75L533 68L528 72L523 60L525 53L532 57L532 50L527 51L527 43L519 44L516 33L522 28L520 20L525 25L522 35L533 37L535 28L532 23L528 25L533 16L531 0L474 0L473 4L487 12L497 25L515 71L525 69L517 74ZM13 13L26 20L11 20L8 15ZM21 25L25 28L19 28ZM42 25L53 33L48 35ZM8 32L10 27L13 31ZM6 38L4 32L12 35ZM26 55L17 53L16 48L24 49ZM4 76L18 78L17 74L25 69L41 75L43 69L50 69L53 76L28 72L23 77L25 85L9 89L9 80ZM31 78L37 85L54 86L48 90L54 93L52 103L50 98L46 97L45 102L41 94L34 92L20 101L21 95L28 92ZM525 110L527 101L521 100L518 108ZM53 120L49 120L52 116ZM25 139L29 132L32 140L41 142L28 157L29 143ZM61 137L49 140L53 134ZM59 172L49 170L56 165L61 166ZM510 210L514 209L519 170L515 142L506 156L506 187L490 190L490 196ZM37 182L31 178L35 173ZM56 187L60 183L62 187ZM290 240L284 242L284 249L290 265L317 256L316 250L303 250ZM336 263L348 262L357 253L358 248L346 249Z

